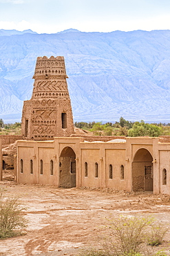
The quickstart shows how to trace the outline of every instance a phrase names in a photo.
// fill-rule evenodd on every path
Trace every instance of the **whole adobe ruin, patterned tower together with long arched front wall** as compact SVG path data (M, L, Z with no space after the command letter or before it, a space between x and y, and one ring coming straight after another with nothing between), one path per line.
M64 58L38 57L33 78L14 157L18 183L170 194L169 136L76 137Z

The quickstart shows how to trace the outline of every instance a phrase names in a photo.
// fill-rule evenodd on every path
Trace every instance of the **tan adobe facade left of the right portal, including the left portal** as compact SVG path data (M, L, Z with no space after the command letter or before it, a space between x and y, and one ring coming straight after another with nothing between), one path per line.
M68 175L65 183L62 176L66 175L70 163L76 165L76 187L87 186L92 188L113 188L124 190L128 175L120 179L120 167L126 166L126 143L85 143L83 138L54 138L53 141L18 141L18 179L19 183L53 184L69 187L70 179L74 175ZM63 150L70 148L75 157L68 157ZM40 161L43 161L43 174L40 173ZM50 161L54 161L54 174L50 175ZM21 161L22 167L21 167ZM30 174L30 161L33 164L33 174ZM85 162L88 170L85 176ZM97 175L96 175L97 164ZM109 179L108 166L113 165L113 177ZM126 167L125 167L126 168ZM61 183L62 181L62 183ZM74 185L73 185L74 186Z

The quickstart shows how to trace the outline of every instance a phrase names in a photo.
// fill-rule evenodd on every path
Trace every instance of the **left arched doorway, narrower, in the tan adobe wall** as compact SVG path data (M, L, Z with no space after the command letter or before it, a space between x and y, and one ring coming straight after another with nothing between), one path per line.
M76 187L76 154L71 147L65 147L59 157L59 187Z

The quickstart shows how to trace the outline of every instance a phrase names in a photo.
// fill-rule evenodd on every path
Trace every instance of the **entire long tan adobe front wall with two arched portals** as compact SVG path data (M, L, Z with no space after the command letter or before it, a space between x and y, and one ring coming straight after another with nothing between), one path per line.
M71 179L76 176L76 187L111 188L129 192L153 190L154 193L170 194L170 143L158 143L158 138L127 137L126 143L88 143L83 138L62 137L46 142L20 140L17 145L19 183L70 188L70 185L74 186ZM67 154L66 149L75 155ZM43 174L40 173L41 160ZM33 165L32 174L30 161ZM52 175L50 161L54 166ZM73 176L70 175L72 163L76 170ZM67 177L65 184L62 183L62 176Z

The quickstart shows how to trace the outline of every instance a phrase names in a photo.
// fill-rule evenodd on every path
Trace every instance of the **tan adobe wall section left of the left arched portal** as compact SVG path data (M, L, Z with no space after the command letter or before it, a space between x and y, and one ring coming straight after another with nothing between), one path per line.
M51 160L54 161L54 169L56 169L54 141L19 140L17 141L17 152L18 183L58 185L56 172L54 175L50 175ZM41 160L43 161L42 173Z

